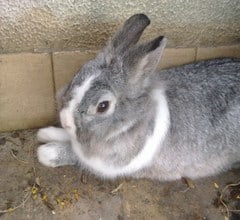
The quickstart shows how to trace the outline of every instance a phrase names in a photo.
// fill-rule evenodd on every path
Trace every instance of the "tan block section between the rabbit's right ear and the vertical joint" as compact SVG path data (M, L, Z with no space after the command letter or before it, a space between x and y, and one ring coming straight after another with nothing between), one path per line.
M167 48L164 50L159 67L168 69L195 61L196 48Z

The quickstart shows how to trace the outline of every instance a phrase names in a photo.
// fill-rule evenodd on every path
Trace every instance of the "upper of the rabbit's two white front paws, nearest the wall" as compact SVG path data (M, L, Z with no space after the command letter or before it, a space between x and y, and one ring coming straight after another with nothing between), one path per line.
M37 139L42 143L53 141L69 141L70 137L63 128L47 127L39 129Z

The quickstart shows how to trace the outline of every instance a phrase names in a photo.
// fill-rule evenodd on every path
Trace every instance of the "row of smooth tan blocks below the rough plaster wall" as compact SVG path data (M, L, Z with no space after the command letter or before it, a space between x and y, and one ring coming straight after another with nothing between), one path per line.
M56 119L55 91L96 51L0 55L0 131L51 125ZM159 67L170 68L215 57L240 57L240 45L168 48Z

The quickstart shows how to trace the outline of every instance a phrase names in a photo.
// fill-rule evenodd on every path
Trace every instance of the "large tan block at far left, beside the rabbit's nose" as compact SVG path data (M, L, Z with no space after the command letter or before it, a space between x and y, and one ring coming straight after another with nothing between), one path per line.
M0 55L0 131L45 126L54 117L50 55Z

